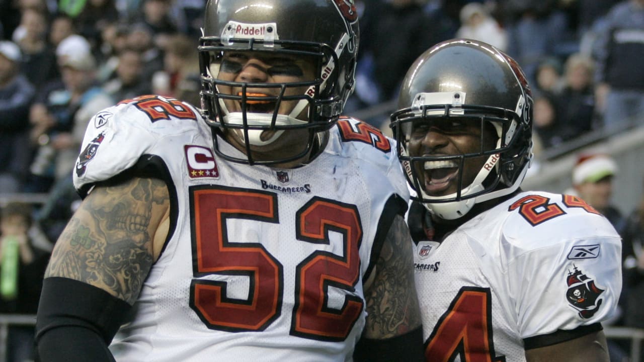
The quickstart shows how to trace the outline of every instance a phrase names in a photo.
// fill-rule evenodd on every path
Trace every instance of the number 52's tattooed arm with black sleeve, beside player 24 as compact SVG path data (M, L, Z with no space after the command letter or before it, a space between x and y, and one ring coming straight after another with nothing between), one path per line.
M368 314L355 361L422 361L412 239L402 216L393 219L374 274L365 285Z

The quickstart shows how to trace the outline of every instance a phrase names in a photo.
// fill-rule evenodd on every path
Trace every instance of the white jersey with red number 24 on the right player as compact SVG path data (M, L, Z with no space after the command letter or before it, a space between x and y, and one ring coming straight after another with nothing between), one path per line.
M414 262L431 362L526 361L553 343L539 336L599 330L621 292L620 236L575 196L518 193Z

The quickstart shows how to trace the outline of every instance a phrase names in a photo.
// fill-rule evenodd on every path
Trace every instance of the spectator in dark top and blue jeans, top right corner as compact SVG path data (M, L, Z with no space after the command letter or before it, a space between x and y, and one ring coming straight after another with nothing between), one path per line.
M603 127L644 124L644 0L625 0L606 15L594 46L596 99Z

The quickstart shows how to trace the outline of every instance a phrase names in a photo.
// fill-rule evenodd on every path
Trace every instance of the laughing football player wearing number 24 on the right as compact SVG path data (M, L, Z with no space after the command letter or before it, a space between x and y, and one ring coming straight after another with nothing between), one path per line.
M518 64L478 41L437 44L398 106L426 361L608 361L620 236L580 198L520 189L533 155Z

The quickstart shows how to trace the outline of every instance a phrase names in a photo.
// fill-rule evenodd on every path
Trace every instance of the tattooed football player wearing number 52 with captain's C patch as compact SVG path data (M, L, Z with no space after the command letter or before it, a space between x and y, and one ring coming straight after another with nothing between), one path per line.
M393 140L340 117L357 46L353 1L209 1L203 110L88 126L42 361L422 361Z

